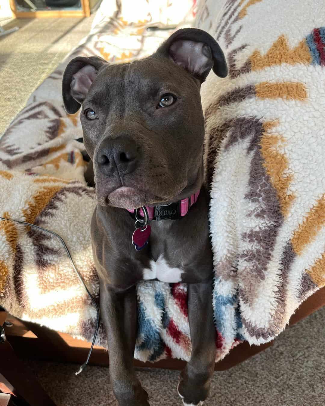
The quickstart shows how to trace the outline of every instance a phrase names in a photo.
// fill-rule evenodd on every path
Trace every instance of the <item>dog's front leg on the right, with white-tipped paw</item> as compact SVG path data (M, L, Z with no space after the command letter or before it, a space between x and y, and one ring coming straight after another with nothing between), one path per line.
M192 354L178 386L184 404L198 405L209 393L216 353L212 289L212 281L188 285Z

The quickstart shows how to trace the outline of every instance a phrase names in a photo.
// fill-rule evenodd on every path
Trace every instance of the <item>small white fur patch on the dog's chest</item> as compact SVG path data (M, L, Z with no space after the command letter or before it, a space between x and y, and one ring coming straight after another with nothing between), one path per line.
M150 269L143 269L143 279L158 279L162 282L176 283L182 280L180 268L170 268L167 261L160 255L157 261L150 260Z

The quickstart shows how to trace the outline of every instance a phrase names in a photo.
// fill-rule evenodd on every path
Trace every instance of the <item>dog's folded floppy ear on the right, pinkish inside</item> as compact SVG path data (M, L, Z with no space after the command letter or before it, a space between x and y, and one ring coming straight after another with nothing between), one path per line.
M225 56L210 34L198 28L182 28L174 32L154 54L167 56L177 65L204 82L211 68L217 76L228 74Z

